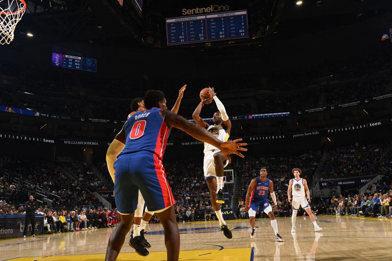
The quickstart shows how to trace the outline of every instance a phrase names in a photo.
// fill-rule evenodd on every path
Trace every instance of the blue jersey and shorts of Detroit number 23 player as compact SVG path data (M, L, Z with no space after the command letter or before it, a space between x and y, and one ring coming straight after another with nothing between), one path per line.
M262 182L260 177L257 177L257 184L252 191L249 198L249 216L256 216L258 208L262 208L263 211L268 214L272 212L270 202L268 202L268 194L270 193L270 179Z

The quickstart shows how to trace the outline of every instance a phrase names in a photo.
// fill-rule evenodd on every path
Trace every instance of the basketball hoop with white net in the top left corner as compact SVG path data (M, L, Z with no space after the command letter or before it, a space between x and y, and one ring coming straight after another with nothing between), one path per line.
M25 0L0 0L0 44L9 45L14 40L16 25L26 11Z

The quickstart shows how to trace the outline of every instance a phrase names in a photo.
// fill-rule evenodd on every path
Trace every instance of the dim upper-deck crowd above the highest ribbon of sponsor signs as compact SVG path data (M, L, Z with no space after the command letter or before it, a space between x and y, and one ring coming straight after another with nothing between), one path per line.
M0 88L0 103L5 106L30 108L34 111L54 115L122 120L126 117L126 113L123 112L130 110L130 100L137 96L143 96L147 89L155 88L165 91L170 107L177 95L177 92L173 92L173 90L179 89L183 84L188 84L189 88L185 92L183 106L179 111L180 115L187 119L192 119L199 90L208 86L215 87L218 95L224 95L223 101L226 100L225 106L231 116L303 111L319 106L365 99L370 101L374 96L390 92L391 73L374 74L385 69L390 60L388 55L384 55L380 57L379 63L375 63L377 64L375 67L369 67L369 64L374 63L369 63L361 58L357 64L352 63L350 59L342 61L341 64L329 65L330 67L323 63L322 69L320 65L306 70L273 72L267 75L232 75L214 79L187 79L186 83L172 79L149 80L145 76L140 79L133 78L131 81L129 78L123 80L105 79L95 75L76 77L73 75L74 71L67 70L55 70L53 73L49 73L45 79L41 77L31 80L36 77L34 73L30 72L33 68L25 68L24 73L18 75L22 70L14 68L16 66L8 65L1 68L4 69L2 73L18 75L18 77L15 77L14 82ZM316 79L318 76L332 78ZM356 79L359 77L365 78ZM347 79L351 80L344 82ZM328 81L331 84L325 84ZM12 91L8 89L12 89ZM227 102L231 99L238 99L238 93L234 91L245 89L248 92L250 90L252 94L239 102ZM294 89L302 89L302 91L295 94L289 92ZM269 91L263 95L256 95L260 90ZM28 92L29 95L18 93L18 91ZM87 93L94 93L96 97L92 98ZM13 99L12 96L17 98ZM202 111L202 116L209 118L214 110L213 106L205 108Z

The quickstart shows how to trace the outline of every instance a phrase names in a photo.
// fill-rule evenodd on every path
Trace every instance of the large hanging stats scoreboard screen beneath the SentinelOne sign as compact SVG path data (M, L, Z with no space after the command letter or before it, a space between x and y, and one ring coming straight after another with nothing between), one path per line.
M166 31L168 46L249 37L246 10L167 18Z

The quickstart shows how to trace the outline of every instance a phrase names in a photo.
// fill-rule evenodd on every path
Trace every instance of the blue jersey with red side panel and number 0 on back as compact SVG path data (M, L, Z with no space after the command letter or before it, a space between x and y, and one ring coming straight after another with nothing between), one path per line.
M159 114L160 110L152 108L148 111L138 112L125 122L126 141L120 155L149 151L162 161L171 129Z

